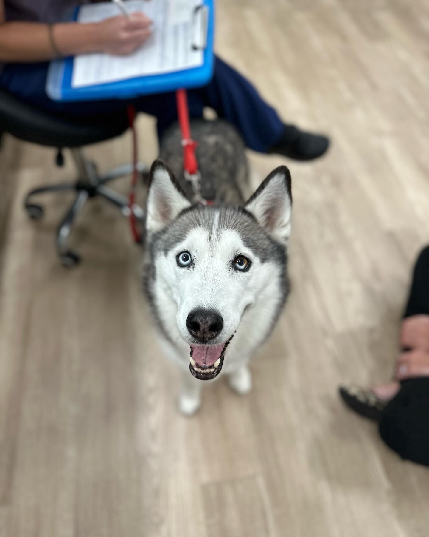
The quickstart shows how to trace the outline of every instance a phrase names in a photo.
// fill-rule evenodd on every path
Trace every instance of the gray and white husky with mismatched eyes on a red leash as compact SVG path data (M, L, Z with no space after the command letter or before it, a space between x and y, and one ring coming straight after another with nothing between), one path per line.
M145 289L169 358L182 369L180 410L194 413L204 380L220 372L239 394L252 387L248 361L268 337L289 293L291 176L270 173L245 202L247 161L235 129L192 125L202 197L183 179L180 132L162 140L147 194ZM174 173L172 171L174 169ZM178 180L176 180L176 178Z

